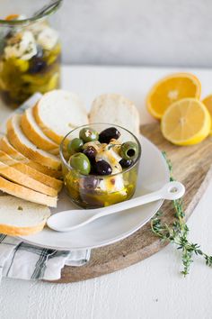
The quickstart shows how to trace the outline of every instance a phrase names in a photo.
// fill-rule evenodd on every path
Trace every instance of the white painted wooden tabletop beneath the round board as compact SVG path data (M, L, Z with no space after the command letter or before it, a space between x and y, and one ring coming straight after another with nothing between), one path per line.
M145 96L159 77L181 69L169 68L63 68L63 87L84 98L89 107L101 93L128 96L146 113ZM187 69L186 69L187 70ZM202 82L202 96L212 93L212 70L191 69ZM0 105L0 120L10 114ZM190 239L212 253L212 182L189 220ZM101 278L74 284L47 284L3 279L0 286L1 319L209 319L212 318L212 269L197 260L190 275L180 275L180 253L163 251Z

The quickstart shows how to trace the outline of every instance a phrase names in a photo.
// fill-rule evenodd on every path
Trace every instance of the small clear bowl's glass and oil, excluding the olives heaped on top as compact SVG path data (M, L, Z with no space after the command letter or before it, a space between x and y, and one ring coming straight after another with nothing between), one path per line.
M120 141L134 141L137 143L138 155L134 163L120 173L97 176L82 175L73 169L66 160L66 145L68 141L79 137L79 132L84 127L91 127L97 132L102 132L109 127L116 127L120 132ZM75 203L83 208L100 208L123 202L131 198L137 187L137 171L141 157L141 146L137 137L119 125L109 123L93 123L80 126L66 134L60 144L60 158L62 160L63 177L66 192Z

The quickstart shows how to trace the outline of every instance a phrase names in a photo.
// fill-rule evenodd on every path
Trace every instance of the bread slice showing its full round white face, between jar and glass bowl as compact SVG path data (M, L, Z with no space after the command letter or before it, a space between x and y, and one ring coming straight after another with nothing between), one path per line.
M53 90L33 107L40 129L59 144L75 127L88 123L84 104L79 96L65 90Z

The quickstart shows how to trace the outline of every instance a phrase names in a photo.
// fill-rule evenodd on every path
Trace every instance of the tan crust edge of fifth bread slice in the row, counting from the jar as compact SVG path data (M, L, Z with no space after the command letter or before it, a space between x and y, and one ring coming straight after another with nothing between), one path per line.
M23 174L19 170L13 169L12 167L4 164L2 161L0 161L0 176L24 187L36 190L42 194L57 196L57 190L55 188L48 187L37 180L30 178L28 175Z

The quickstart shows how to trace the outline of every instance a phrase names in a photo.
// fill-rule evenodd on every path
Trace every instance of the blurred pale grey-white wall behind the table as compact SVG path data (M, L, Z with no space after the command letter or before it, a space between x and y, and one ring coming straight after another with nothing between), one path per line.
M47 0L1 0L0 17ZM53 19L64 62L212 66L211 0L64 0Z

